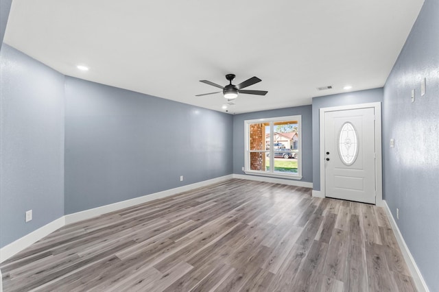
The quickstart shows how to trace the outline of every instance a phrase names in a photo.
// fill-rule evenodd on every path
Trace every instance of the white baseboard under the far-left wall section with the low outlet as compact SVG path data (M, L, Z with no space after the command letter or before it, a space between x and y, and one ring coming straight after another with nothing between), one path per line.
M30 245L36 243L44 236L51 234L51 232L54 232L55 230L62 228L62 226L64 225L65 225L65 220L64 220L64 216L62 216L54 221L51 221L50 223L47 223L43 227L38 228L37 230L34 230L29 234L26 234L20 239L14 241L13 243L5 245L0 249L0 263L3 263L11 256L14 256L14 254L17 254L18 252L21 252L25 248L29 247Z

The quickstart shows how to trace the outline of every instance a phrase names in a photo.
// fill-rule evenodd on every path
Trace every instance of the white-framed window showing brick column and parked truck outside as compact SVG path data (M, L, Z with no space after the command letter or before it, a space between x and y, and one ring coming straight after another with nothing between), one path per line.
M245 121L248 174L302 178L302 116Z

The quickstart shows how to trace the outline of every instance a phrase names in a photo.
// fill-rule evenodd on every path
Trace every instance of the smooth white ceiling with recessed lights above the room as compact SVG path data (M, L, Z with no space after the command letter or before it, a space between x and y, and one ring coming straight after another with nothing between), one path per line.
M311 104L384 85L423 0L14 0L5 42L64 73L229 113ZM76 66L85 64L89 71ZM333 86L318 91L319 86Z

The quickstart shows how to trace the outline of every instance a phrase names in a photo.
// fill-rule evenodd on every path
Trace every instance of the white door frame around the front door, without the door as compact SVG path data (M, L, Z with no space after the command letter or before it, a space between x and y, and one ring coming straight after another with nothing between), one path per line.
M349 106L333 106L330 108L320 108L320 193L319 197L326 197L326 180L324 167L324 114L326 112L335 112L339 110L357 110L361 108L375 109L375 182L377 188L377 196L375 197L375 204L377 206L384 206L383 204L383 153L381 141L381 102L371 102L368 104L353 104Z

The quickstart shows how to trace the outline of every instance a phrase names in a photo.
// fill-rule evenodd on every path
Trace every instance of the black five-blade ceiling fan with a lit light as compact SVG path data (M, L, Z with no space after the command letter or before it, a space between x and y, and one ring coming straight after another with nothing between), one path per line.
M234 79L235 79L235 74L227 74L226 80L228 80L230 82L230 84L228 84L226 86L221 86L221 85L218 85L216 83L213 83L213 82L210 82L207 80L200 80L200 82L221 88L224 97L226 97L226 99L228 99L228 100L237 98L238 93L245 93L247 95L266 95L268 93L268 91L263 91L263 90L242 90L242 88L246 88L250 85L261 82L262 80L260 80L258 77L251 77L250 79L248 79L244 82L241 82L238 85L232 84L232 80L234 80ZM220 92L221 91L217 91L216 93L220 93ZM213 94L215 94L215 93L204 93L202 95L195 95L195 96L201 97L203 95L213 95Z

